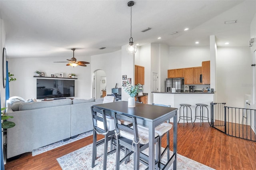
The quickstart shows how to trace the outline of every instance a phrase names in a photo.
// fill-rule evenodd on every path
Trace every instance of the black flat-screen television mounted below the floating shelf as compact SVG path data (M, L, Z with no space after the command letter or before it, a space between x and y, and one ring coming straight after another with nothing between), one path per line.
M36 79L36 99L74 97L75 81L63 79Z

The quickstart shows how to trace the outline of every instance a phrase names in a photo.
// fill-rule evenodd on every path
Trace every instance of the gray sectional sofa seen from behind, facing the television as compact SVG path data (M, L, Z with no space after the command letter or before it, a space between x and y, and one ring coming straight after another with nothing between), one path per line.
M102 102L103 98L26 103L11 97L7 114L16 126L7 129L7 158L92 130L90 107Z

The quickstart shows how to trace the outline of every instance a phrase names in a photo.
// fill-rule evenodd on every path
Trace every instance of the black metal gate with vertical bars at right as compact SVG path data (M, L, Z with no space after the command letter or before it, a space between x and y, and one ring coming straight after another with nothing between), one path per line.
M212 127L238 138L256 141L256 110L211 103Z

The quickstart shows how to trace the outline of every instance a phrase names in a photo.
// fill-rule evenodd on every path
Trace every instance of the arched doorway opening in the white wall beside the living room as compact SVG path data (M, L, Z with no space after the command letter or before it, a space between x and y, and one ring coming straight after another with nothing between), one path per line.
M98 69L93 72L92 77L93 77L92 97L94 97L95 99L99 99L102 97L102 90L106 90L106 84L107 84L106 73L105 71Z

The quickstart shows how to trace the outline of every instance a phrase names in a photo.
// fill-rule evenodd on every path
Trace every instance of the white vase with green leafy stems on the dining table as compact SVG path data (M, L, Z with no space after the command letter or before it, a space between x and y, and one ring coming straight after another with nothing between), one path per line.
M128 107L135 107L135 99L134 97L138 93L138 88L140 84L138 85L132 85L129 81L126 82L126 86L124 86L124 91L130 95L128 98Z

